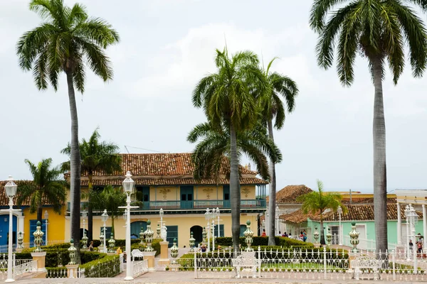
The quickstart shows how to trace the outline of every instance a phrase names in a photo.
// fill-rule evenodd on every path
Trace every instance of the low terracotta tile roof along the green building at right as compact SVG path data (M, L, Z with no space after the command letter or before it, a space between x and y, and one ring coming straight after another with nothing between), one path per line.
M357 204L357 205L347 205L348 212L347 214L342 214L342 221L373 221L374 220L374 204ZM420 219L423 218L421 212L417 212ZM401 207L401 216L405 216L404 207ZM280 215L280 219L283 219L287 222L292 223L301 223L307 221L307 218L312 219L313 221L320 221L320 214L303 214L302 210L299 209L290 214ZM387 204L387 219L388 220L397 220L397 205L396 203ZM327 212L323 214L324 221L338 222L339 217L337 213Z

